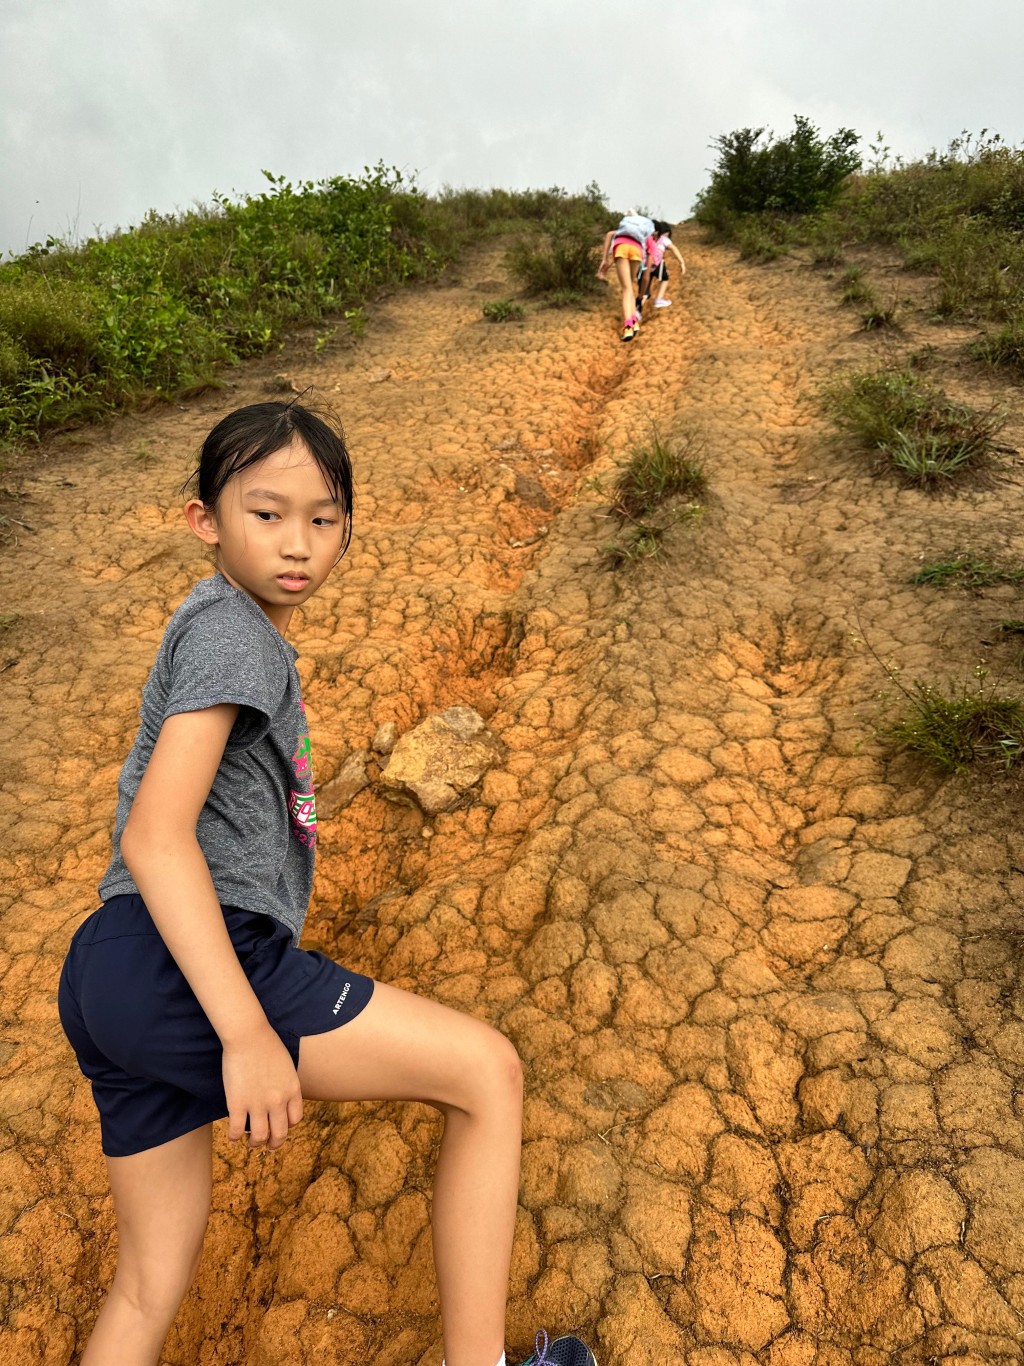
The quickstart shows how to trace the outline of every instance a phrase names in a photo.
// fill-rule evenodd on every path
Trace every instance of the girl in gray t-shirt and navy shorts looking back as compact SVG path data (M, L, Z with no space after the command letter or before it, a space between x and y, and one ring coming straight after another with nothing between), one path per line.
M317 817L287 639L344 555L336 425L257 403L203 443L184 507L216 572L171 617L122 769L102 906L60 982L100 1111L119 1251L83 1366L156 1366L199 1264L212 1124L273 1152L303 1100L415 1100L444 1116L433 1243L448 1366L502 1366L522 1070L481 1020L298 947ZM594 1366L538 1333L530 1362Z

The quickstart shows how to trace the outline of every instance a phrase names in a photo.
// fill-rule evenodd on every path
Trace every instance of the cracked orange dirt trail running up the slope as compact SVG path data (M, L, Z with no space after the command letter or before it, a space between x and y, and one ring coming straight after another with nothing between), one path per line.
M483 322L492 254L389 301L354 351L287 362L347 417L359 474L354 550L295 632L328 814L382 721L468 702L508 747L430 825L370 790L322 822L307 943L520 1049L511 1346L547 1324L608 1366L1019 1362L1020 794L887 754L863 642L908 676L998 656L1009 590L905 581L1019 537L1020 474L956 504L872 479L801 402L867 359L822 276L684 250L631 347L610 309ZM56 452L0 563L11 1366L70 1362L109 1273L56 978L141 683L202 572L186 454L272 373ZM593 477L649 418L706 433L711 503L624 579ZM314 1106L276 1160L218 1142L167 1362L437 1366L436 1141L425 1109Z

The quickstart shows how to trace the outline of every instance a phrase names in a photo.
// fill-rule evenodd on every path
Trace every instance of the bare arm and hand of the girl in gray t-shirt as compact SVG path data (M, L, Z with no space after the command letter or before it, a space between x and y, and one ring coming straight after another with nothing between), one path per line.
M238 716L229 703L169 716L122 835L122 856L175 962L224 1045L228 1137L280 1147L302 1119L291 1056L235 955L195 835Z

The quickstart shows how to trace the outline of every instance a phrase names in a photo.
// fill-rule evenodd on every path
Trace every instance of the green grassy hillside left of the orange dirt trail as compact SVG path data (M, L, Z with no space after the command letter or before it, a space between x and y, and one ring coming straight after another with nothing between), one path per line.
M427 197L384 165L266 179L262 194L82 246L51 238L0 265L0 445L187 393L325 316L358 328L375 288L437 273L493 227L593 235L605 214L597 186Z

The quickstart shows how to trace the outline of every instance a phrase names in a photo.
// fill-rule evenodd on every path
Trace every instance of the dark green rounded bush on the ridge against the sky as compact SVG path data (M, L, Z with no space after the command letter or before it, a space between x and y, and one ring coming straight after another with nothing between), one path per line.
M815 213L831 204L860 167L852 128L823 139L796 115L788 138L760 128L724 133L711 146L718 163L695 206L699 223L729 234L735 219L752 213Z

